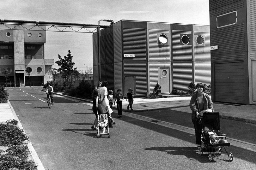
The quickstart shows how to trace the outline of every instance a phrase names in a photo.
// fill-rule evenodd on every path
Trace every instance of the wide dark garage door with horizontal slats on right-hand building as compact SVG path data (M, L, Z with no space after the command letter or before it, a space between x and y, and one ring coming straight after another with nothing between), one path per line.
M244 62L214 64L214 101L245 103Z

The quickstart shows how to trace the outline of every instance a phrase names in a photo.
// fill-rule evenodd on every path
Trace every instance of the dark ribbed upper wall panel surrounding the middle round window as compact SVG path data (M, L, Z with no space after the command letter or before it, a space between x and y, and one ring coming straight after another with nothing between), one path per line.
M192 32L172 30L172 60L192 60L192 45L181 45L181 34L190 35Z

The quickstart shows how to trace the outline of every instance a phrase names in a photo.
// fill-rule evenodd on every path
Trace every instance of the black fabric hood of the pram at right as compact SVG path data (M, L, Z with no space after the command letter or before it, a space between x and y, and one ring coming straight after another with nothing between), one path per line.
M209 127L210 130L220 131L220 113L219 112L205 112L201 117L202 128Z

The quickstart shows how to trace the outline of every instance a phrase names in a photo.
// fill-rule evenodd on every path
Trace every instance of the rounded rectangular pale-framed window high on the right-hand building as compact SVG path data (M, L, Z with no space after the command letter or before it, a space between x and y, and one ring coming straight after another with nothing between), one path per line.
M237 23L237 12L232 11L216 17L217 28L235 25Z

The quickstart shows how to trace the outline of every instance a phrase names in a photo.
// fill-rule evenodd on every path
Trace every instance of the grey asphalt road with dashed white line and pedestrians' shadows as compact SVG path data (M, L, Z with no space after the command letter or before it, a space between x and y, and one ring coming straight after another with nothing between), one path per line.
M208 154L199 155L194 144L194 135L131 116L124 115L118 119L116 110L112 116L117 123L110 128L111 138L107 136L96 138L96 131L90 129L95 117L90 103L54 95L54 105L49 109L46 94L40 90L41 87L9 88L8 93L9 101L45 169L255 169L256 167L256 153L253 151L235 146L226 147L228 152L233 153L234 161L229 162L227 157L220 157L210 162ZM163 116L163 112L172 115L172 119ZM158 119L182 126L192 126L191 120L186 118L188 115L186 110L168 109L162 110L161 113L152 111L138 114L156 116ZM237 127L235 123L232 125ZM233 133L233 126L230 125L230 134ZM223 123L222 127L223 129L225 127ZM255 130L255 126L250 124L244 126L242 123L238 129L243 128L245 128L244 132L250 128ZM255 131L253 133L255 136ZM243 133L233 135L233 138L236 137L252 142ZM255 137L252 140L255 142Z

